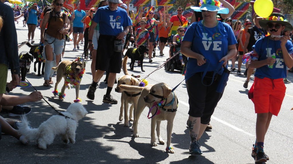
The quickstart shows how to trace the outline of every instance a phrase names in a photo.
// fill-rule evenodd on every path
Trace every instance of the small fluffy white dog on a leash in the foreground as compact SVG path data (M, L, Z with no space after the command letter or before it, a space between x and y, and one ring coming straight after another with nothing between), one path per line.
M53 143L56 135L62 136L66 144L69 141L75 143L75 131L78 121L84 118L88 112L80 103L70 104L66 111L61 112L64 116L55 115L43 122L39 128L30 128L26 116L21 117L19 132L28 140L37 140L40 149L47 149L47 145Z

